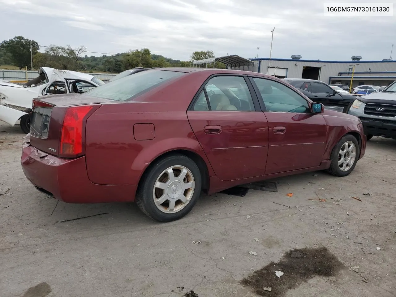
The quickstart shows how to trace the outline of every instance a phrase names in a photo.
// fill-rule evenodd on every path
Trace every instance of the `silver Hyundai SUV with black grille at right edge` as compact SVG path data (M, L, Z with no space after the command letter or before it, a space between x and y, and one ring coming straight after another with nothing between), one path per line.
M358 97L348 114L360 118L367 140L373 136L396 139L396 81L380 92Z

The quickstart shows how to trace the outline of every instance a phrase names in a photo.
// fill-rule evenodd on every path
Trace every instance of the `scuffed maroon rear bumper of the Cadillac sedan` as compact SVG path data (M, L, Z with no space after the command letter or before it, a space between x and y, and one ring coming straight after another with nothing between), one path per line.
M88 179L85 156L58 158L23 142L21 165L27 179L41 192L68 203L130 202L137 186L97 185Z

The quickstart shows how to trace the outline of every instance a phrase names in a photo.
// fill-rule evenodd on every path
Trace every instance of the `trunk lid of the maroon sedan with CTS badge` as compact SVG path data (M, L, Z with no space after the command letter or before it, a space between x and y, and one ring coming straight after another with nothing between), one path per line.
M43 156L48 154L59 156L63 119L69 107L116 103L88 94L46 95L34 100L40 103L34 106L30 118L30 145L47 153ZM85 125L83 127L85 128Z

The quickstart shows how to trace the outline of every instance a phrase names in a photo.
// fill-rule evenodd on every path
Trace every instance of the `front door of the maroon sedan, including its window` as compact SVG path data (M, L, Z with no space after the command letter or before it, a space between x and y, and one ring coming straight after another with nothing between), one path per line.
M311 114L307 100L280 82L253 77L268 121L269 148L265 174L319 166L327 125L321 114Z

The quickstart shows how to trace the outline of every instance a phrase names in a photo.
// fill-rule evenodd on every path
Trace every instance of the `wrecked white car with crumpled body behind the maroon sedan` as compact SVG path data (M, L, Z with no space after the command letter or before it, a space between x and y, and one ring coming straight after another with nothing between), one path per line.
M91 74L40 67L38 77L25 84L0 81L0 120L24 133L30 130L32 100L42 95L84 93L105 83Z

